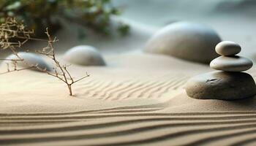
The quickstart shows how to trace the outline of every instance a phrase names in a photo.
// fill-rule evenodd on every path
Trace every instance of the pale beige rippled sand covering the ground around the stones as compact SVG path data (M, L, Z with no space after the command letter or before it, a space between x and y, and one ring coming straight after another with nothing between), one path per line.
M97 44L92 39L66 39L65 44L65 34L73 31L59 32L63 41L56 47L62 62L69 47L95 44L108 64L70 66L75 77L91 74L73 86L73 97L61 81L40 72L1 75L0 145L255 145L256 96L237 101L189 98L184 91L189 77L213 70L142 53L156 27L129 22L129 37ZM219 32L238 39L231 31ZM245 36L241 39L246 42ZM255 43L249 42L246 46ZM245 50L247 56L253 53ZM256 79L255 67L248 73Z

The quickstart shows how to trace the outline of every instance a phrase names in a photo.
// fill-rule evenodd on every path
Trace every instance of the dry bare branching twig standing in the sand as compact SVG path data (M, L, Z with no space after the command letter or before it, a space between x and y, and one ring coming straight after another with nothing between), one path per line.
M74 80L72 75L67 69L67 65L61 65L59 61L56 59L55 50L53 47L53 43L57 42L58 39L56 37L52 38L50 37L50 34L48 32L48 28L46 28L45 34L48 37L48 40L46 39L37 39L32 38L31 34L33 34L34 31L27 31L26 28L23 26L22 23L18 23L14 18L7 18L6 23L2 23L0 26L0 47L2 49L10 49L12 51L12 54L15 55L18 59L0 59L1 61L12 61L13 69L10 69L10 64L7 64L7 72L2 72L0 74L7 74L10 72L18 72L26 69L37 69L40 72L45 72L46 74L49 74L52 77L56 77L62 82L64 82L67 85L67 88L69 89L69 95L72 96L72 85L75 82L78 82L80 80L85 79L86 77L89 77L89 74L86 72L86 75L84 77L80 77L78 80ZM16 41L14 42L13 39L24 39L22 42ZM46 47L43 47L42 50L37 50L36 52L40 55L45 55L48 58L51 58L53 63L55 64L55 67L53 68L53 72L48 71L47 69L42 69L38 65L32 65L26 62L23 58L18 55L18 52L16 51L17 48L20 48L24 43L28 42L29 40L36 40L36 41L47 41L48 45ZM18 69L17 63L18 61L21 61L23 64L26 64L25 68Z

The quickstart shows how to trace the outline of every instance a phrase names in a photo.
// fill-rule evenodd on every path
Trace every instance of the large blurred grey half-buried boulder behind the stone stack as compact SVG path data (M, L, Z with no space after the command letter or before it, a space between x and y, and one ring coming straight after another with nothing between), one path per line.
M159 53L203 64L217 58L215 46L221 42L212 28L198 23L177 22L157 31L144 51Z

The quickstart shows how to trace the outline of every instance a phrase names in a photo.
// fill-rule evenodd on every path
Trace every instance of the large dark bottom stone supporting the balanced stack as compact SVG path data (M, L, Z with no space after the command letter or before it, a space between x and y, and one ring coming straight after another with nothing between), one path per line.
M256 85L244 72L209 72L192 77L186 92L194 99L235 100L255 96Z

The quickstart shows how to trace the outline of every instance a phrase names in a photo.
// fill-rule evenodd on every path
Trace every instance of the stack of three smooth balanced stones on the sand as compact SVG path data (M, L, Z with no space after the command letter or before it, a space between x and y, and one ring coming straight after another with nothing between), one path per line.
M211 68L219 71L200 74L187 82L187 95L194 99L235 100L255 96L256 85L252 76L244 71L252 61L238 56L241 47L235 42L219 42L215 47L221 55L211 61Z

